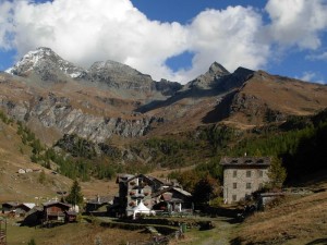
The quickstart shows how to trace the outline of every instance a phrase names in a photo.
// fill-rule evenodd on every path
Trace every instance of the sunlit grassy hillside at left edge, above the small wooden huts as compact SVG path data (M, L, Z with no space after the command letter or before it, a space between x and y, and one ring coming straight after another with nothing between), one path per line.
M61 189L68 191L71 180L31 162L31 147L22 143L16 131L14 123L5 124L0 121L0 203L44 201L58 196L57 192ZM31 169L34 172L19 173L20 169ZM41 170L45 171L44 180L40 180Z

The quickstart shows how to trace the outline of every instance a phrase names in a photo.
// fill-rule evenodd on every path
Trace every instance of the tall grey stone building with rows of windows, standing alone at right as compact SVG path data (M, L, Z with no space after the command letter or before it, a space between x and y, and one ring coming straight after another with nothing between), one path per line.
M232 204L246 198L269 182L269 157L223 157L223 200Z

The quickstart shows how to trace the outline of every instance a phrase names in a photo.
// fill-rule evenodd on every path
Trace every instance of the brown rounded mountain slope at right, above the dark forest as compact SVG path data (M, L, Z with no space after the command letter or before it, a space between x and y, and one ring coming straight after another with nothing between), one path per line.
M238 90L226 95L205 121L262 125L288 115L310 115L327 107L327 86L258 71Z

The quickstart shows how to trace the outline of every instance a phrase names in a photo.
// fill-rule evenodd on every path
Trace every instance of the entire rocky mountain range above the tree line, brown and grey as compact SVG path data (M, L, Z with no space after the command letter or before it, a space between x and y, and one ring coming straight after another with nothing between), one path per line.
M245 68L230 73L217 62L184 86L114 61L84 70L48 48L28 52L7 72L15 76L0 75L0 102L11 117L57 138L77 134L96 143L217 122L255 126L327 107L326 86Z

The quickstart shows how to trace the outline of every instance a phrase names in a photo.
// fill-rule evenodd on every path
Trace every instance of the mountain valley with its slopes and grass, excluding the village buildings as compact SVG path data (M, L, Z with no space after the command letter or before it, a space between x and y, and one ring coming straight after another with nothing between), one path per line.
M113 201L118 174L129 173L177 180L194 198L196 189L198 195L207 187L198 207L239 210L243 203L223 204L220 159L269 156L281 160L284 186L315 192L282 199L242 223L215 216L213 230L193 228L170 244L324 244L326 108L326 85L265 71L231 73L214 62L181 85L153 81L114 61L82 69L39 48L0 73L0 203L60 199L74 180L86 200ZM20 228L12 219L8 244L150 238L144 228L108 229L88 216L80 218L46 230Z

